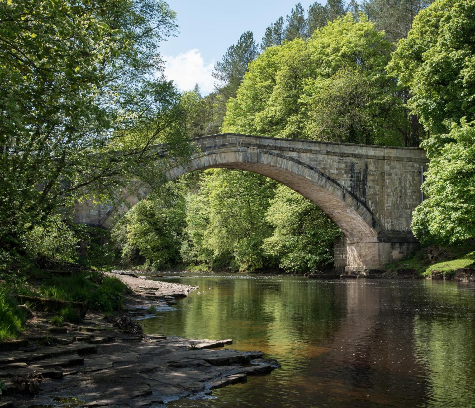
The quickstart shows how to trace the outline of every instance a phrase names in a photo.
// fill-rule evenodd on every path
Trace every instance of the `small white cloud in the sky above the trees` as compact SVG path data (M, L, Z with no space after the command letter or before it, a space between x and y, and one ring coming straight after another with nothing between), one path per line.
M214 62L206 64L198 49L194 48L178 56L165 56L165 75L175 81L182 91L189 91L198 83L203 96L213 91Z

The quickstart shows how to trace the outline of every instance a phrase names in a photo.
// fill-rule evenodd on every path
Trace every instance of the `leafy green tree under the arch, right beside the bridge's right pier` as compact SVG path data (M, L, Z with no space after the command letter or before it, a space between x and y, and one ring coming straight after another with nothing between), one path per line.
M323 269L333 262L333 241L342 234L315 204L285 185L279 185L266 211L275 230L264 240L267 254L292 272Z

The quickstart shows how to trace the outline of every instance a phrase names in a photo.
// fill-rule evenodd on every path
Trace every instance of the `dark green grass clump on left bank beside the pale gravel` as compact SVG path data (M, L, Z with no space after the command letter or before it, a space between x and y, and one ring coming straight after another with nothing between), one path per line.
M69 277L49 277L39 287L42 297L70 302L89 302L91 308L113 312L122 307L128 290L120 279L101 272L82 271Z

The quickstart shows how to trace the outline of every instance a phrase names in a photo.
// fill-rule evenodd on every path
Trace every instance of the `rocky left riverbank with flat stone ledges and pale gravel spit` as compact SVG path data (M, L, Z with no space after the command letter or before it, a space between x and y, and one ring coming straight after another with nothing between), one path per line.
M232 340L143 335L137 318L170 308L197 287L106 274L131 288L124 313L89 311L55 327L33 310L18 340L0 344L0 407L157 406L247 380L278 367L263 353L223 349ZM215 350L212 350L215 349Z

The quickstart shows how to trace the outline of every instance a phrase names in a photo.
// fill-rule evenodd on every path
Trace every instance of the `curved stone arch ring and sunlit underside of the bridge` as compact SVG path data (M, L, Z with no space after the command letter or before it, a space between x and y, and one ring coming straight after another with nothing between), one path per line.
M342 229L349 241L374 242L381 224L350 191L294 158L247 148L218 149L192 158L186 167L172 167L170 180L190 171L232 168L257 173L290 187L320 207Z

